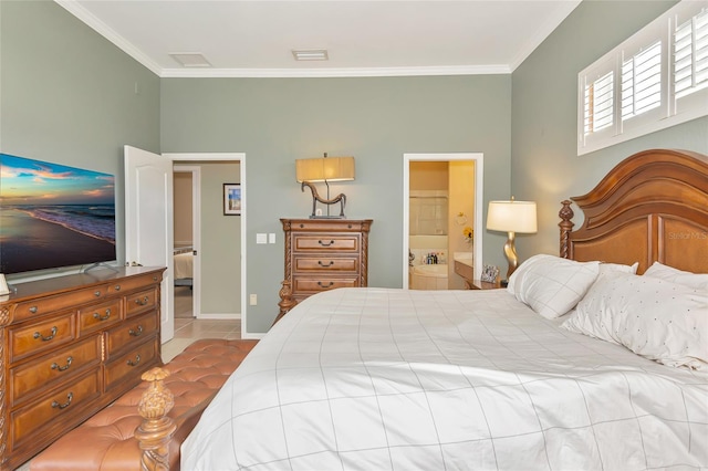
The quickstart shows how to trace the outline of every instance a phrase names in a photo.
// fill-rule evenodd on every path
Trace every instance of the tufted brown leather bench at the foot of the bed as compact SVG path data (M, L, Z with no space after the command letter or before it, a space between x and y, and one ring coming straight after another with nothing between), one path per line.
M181 442L257 342L196 341L38 454L30 470L178 470Z

